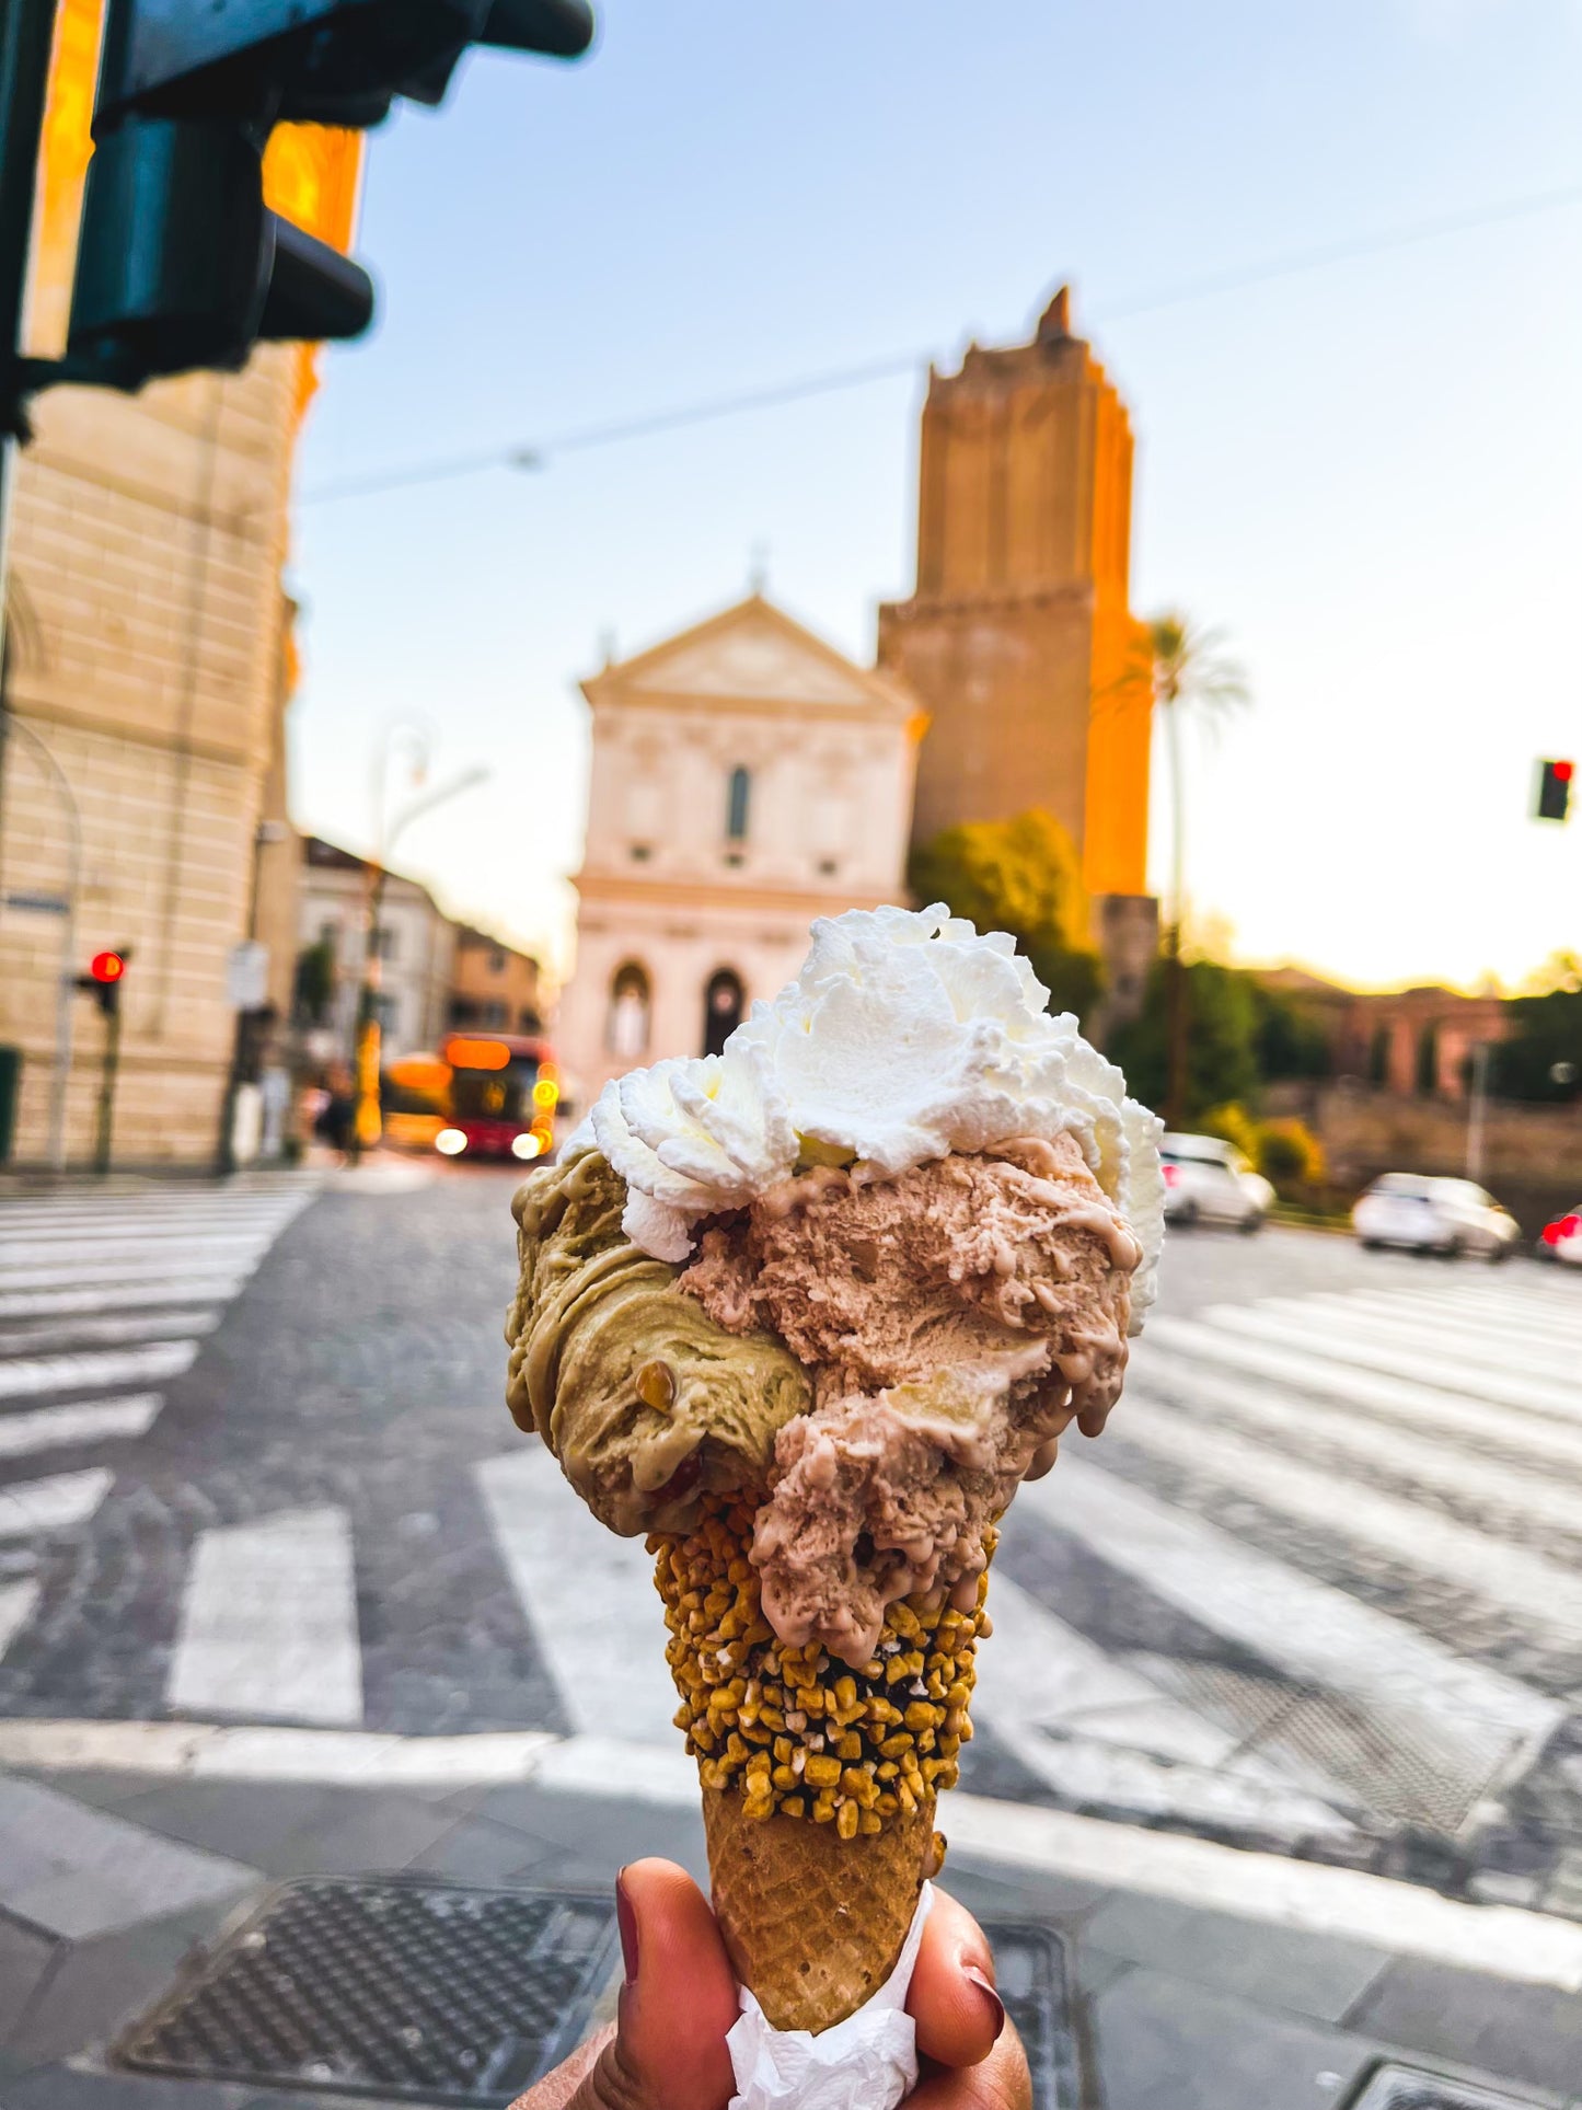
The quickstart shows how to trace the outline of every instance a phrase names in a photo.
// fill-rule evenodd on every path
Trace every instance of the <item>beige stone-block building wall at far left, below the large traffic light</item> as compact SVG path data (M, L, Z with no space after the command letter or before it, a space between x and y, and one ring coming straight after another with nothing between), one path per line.
M74 968L131 947L120 1154L217 1148L234 1013L226 958L253 912L259 823L281 806L285 500L300 354L141 397L55 390L19 458L0 781L0 1040L23 1049L15 1156L40 1160L55 1057L65 812L82 823ZM278 810L274 814L278 819ZM21 899L21 905L17 903ZM67 1150L91 1150L101 1019L76 1002Z

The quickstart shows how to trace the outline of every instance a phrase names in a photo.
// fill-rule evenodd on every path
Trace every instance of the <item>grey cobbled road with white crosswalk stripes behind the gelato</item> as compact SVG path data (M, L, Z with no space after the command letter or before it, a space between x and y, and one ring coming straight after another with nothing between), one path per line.
M0 1203L0 1713L673 1747L502 1405L510 1173ZM1582 1918L1582 1274L1171 1239L1019 1498L966 1785Z

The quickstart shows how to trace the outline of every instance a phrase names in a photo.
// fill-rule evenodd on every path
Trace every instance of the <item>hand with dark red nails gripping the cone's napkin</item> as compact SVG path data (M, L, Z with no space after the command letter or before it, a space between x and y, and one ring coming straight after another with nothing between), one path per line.
M709 1903L673 1861L616 1880L626 1983L618 2019L510 2110L726 2110L736 1977ZM1021 2038L993 1990L983 1929L943 1891L924 1924L907 2013L922 2078L913 2110L1031 2110Z

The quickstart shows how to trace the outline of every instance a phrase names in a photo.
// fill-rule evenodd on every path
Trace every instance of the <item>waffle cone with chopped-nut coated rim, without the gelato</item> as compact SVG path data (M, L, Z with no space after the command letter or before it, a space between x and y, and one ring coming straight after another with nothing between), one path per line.
M861 1669L789 1648L759 1610L751 1532L749 1502L717 1500L694 1532L652 1540L677 1726L736 1973L776 2030L827 2030L886 1981L941 1865L934 1796L972 1734L987 1618L939 1591L892 1606Z

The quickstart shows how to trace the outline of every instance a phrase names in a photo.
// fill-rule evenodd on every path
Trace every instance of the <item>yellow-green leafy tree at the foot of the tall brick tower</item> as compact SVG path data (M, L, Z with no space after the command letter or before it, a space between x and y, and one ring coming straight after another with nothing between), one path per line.
M979 931L1008 931L1050 992L1055 1011L1082 1017L1103 975L1088 928L1076 844L1048 812L964 821L913 852L920 901L945 901Z

